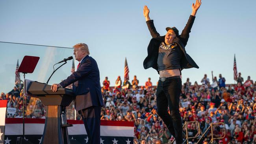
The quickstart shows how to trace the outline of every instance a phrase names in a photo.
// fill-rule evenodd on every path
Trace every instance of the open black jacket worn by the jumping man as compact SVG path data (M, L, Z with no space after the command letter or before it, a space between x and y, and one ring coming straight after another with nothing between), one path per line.
M187 45L187 41L189 38L189 33L191 32L192 25L194 23L195 17L190 15L187 24L182 31L181 35L178 35L173 42L177 43L180 49L183 52L182 60L181 60L181 70L184 68L199 68L195 61L186 53L185 46ZM165 42L165 35L160 36L160 34L156 31L153 20L147 21L148 30L152 35L152 39L148 44L148 56L145 58L143 62L143 66L145 69L154 68L158 71L157 59L158 59L158 50L161 42Z

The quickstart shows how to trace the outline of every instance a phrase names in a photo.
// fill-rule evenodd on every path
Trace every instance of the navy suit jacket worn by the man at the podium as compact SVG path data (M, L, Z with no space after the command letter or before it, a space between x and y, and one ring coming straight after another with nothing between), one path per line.
M104 106L100 88L100 72L95 59L89 55L84 57L76 72L59 84L67 87L71 83L73 83L76 111L91 106Z

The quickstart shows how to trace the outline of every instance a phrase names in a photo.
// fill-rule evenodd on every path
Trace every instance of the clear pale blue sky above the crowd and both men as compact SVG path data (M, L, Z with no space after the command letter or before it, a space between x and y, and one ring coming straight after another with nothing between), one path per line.
M84 42L98 62L101 82L105 76L109 77L111 85L117 76L123 79L127 57L130 78L137 75L140 84L144 85L151 77L155 85L157 72L143 68L151 39L143 6L148 6L158 32L165 35L167 26L182 31L193 2L195 0L1 0L0 41L64 47ZM255 6L255 0L202 0L186 46L187 53L200 68L183 70L183 81L188 77L192 82L200 81L204 74L211 78L213 70L215 76L222 74L227 83L234 83L234 54L242 76L247 79L250 75L256 80ZM67 49L53 48L51 51L36 46L0 46L0 91L13 87L17 58L21 61L25 54L39 55L41 65L49 65L48 69L43 69L50 74L54 63L72 55L72 50ZM70 67L71 61L50 83L65 79L70 74ZM37 68L38 71L28 78L40 78L41 67Z

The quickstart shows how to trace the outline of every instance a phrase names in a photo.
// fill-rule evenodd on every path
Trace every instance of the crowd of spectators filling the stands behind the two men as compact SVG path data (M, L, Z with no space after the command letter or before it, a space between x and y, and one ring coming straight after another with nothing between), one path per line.
M198 84L192 85L189 78L182 86L180 96L180 115L187 124L189 139L194 144L202 136L210 124L223 122L224 125L212 125L213 137L225 137L214 140L219 144L256 144L256 82L248 76L244 81L239 73L237 84L226 85L225 78L219 74L212 81L204 75ZM101 110L101 120L122 120L134 122L134 144L170 144L174 137L157 114L156 87L150 78L145 85L140 84L136 76L130 83L122 82L120 76L115 87L110 87L108 77L103 81L102 94L105 106ZM139 86L143 85L143 86ZM7 117L22 117L23 90L14 87L8 93L1 93L0 100L8 100L7 107L16 108L15 113L7 113ZM40 100L25 97L27 118L45 118L45 108ZM8 109L8 108L7 108ZM74 105L67 107L67 118L74 119ZM76 119L81 119L76 114ZM185 132L185 128L184 128ZM202 138L203 144L211 140L211 129ZM175 143L175 142L174 142Z

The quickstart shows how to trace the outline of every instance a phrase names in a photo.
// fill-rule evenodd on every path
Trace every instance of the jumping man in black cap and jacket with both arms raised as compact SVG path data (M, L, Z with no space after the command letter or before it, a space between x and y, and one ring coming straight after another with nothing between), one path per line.
M150 67L156 69L160 75L156 90L157 112L175 137L176 144L182 144L183 138L185 138L185 134L182 132L182 118L179 112L182 89L181 70L184 68L199 68L186 53L185 46L200 5L201 0L196 0L196 3L192 4L192 13L181 35L179 35L179 31L175 27L167 27L167 33L164 36L160 36L156 31L153 20L149 18L148 7L145 6L143 11L148 30L153 37L148 44L148 56L144 60L143 66L145 69ZM173 15L173 13L168 16L170 15ZM161 22L165 22L165 20ZM168 113L168 106L170 114Z

